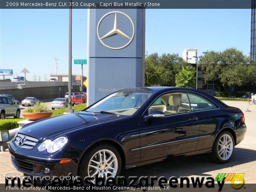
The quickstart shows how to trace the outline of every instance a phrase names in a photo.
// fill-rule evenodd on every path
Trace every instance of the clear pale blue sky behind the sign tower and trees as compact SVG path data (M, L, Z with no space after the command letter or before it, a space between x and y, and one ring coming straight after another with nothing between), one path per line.
M87 58L87 10L72 15L73 59ZM147 9L146 51L175 53L185 48L223 51L237 48L249 56L250 9ZM44 81L55 73L68 73L68 9L0 9L0 68L14 76ZM72 65L73 74L81 66ZM86 67L84 75L86 76ZM11 76L6 78L12 78Z

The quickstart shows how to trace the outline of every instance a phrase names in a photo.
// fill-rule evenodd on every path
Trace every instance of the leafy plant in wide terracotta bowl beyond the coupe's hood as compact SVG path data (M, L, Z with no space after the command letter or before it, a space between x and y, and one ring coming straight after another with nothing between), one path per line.
M39 103L35 104L33 107L29 107L27 110L22 112L22 115L27 120L34 121L50 117L52 115L52 111L48 110L46 104Z

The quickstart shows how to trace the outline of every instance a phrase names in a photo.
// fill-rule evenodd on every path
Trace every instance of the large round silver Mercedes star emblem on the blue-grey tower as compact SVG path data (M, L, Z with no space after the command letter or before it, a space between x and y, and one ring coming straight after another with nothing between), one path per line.
M110 14L115 14L115 19L114 19L114 26L113 26L113 29L110 30L108 33L106 33L105 35L101 36L99 35L99 28L100 28L100 24L102 22L102 20L104 20L104 18L106 18L106 16L110 15ZM132 36L128 36L127 34L125 34L124 32L122 32L122 30L120 30L118 28L118 14L123 14L124 16L126 16L126 18L128 18L128 20L131 22L132 24ZM123 36L125 38L127 38L129 41L128 43L126 43L124 46L120 46L120 47L111 47L111 46L108 46L106 45L102 40L105 39L105 38L108 38L110 36L113 36L113 35L120 35L120 36ZM98 35L98 38L100 40L100 42L106 46L107 48L110 48L110 49L114 49L114 50L118 50L118 49L122 49L122 48L125 48L126 46L128 46L133 38L134 38L134 34L135 34L135 30L134 30L134 24L132 22L132 19L125 13L123 12L120 12L120 11L112 11L112 12L109 12L107 14L105 14L101 19L100 21L98 22L98 26L97 26L97 35Z

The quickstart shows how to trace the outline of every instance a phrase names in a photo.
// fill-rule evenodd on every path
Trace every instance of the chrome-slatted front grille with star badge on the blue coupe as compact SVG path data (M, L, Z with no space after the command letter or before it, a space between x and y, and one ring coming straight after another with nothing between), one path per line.
M25 148L25 149L32 149L36 143L38 142L38 139L34 137L30 137L24 134L17 134L14 143L20 147L20 148Z

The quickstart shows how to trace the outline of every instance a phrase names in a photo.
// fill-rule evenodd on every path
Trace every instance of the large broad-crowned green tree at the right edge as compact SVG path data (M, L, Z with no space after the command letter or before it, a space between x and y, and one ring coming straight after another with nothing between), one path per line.
M230 96L233 86L255 82L256 65L236 48L206 52L198 63L204 82L217 80Z

